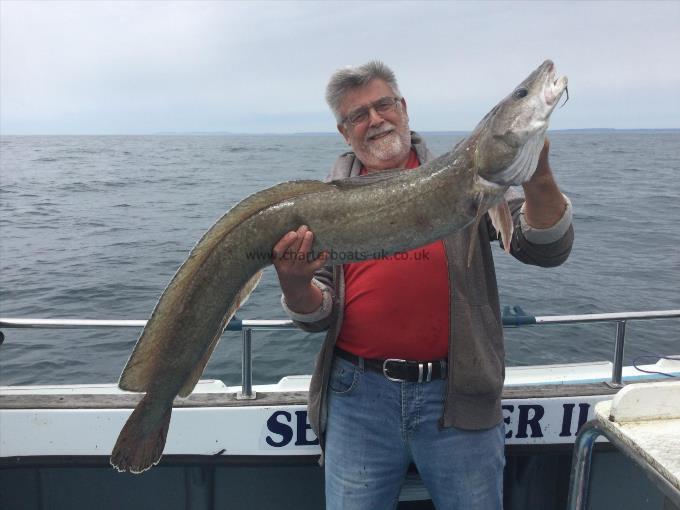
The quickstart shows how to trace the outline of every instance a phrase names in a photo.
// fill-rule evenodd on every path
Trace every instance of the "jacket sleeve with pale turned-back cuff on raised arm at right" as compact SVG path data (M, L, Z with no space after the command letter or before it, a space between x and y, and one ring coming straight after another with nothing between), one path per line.
M567 260L574 242L571 202L568 198L562 218L554 226L546 229L532 228L527 224L524 219L524 198L514 198L508 205L514 226L510 244L510 253L513 257L524 264L541 267L559 266ZM498 238L488 215L487 226L489 237ZM503 246L503 240L500 240L500 244Z

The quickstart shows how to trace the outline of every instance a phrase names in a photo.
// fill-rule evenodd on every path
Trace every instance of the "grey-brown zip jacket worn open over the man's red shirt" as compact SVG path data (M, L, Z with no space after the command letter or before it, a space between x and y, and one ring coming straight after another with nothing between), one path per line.
M421 163L432 159L425 143L412 133L412 144ZM361 163L353 153L338 158L329 180L358 175ZM548 244L533 244L520 227L523 199L510 201L515 229L510 253L525 264L557 266L569 256L574 238L573 227ZM472 227L445 238L444 248L449 268L449 333L448 387L441 427L487 429L502 419L501 391L505 377L505 350L498 299L498 287L491 254L492 239L497 238L491 221L480 222L473 258L467 267L467 254ZM342 327L345 279L343 266L327 266L315 278L326 285L333 298L332 311L317 322L297 322L305 331L328 330L309 388L309 420L324 445L326 428L326 392L333 362L335 341Z

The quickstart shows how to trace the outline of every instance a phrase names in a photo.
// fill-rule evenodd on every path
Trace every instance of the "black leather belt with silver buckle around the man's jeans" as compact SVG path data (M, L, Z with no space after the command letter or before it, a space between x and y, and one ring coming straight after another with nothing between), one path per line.
M336 347L335 354L359 365L363 359L364 367L372 372L384 375L395 382L428 382L433 379L446 379L446 360L407 361L403 359L367 359Z

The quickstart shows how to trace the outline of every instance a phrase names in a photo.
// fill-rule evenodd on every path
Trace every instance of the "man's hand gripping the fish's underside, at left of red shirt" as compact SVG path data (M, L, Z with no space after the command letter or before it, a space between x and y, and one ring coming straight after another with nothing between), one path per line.
M323 267L327 254L311 260L314 234L306 225L283 236L272 250L272 262L281 284L286 305L297 313L316 311L323 300L321 291L312 285L314 273Z

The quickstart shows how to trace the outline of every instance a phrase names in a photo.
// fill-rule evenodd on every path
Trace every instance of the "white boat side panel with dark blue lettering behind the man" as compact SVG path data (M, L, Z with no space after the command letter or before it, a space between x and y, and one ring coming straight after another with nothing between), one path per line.
M680 361L664 362L663 371L680 375ZM610 373L610 363L509 368L503 399L508 447L573 444L594 405L616 392L604 383ZM624 369L624 381L643 377L653 376ZM201 381L186 402L176 401L164 456L319 455L305 405L309 381L291 376L256 386L266 398L251 401L234 398L238 387ZM0 460L107 456L135 398L115 385L0 388Z

